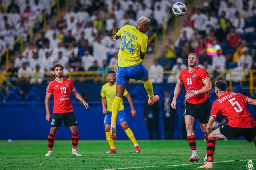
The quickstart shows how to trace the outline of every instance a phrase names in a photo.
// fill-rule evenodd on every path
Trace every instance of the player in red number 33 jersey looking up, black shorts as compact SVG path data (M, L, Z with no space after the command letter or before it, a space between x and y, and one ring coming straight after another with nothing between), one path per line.
M209 119L211 105L208 100L208 91L212 90L212 83L207 71L198 67L199 57L196 53L188 56L188 68L180 71L179 79L174 90L171 107L176 109L176 99L184 83L186 90L186 109L184 118L186 123L187 138L192 155L190 162L198 161L200 158L196 151L196 136L194 134L194 121L199 119L200 127L207 140L206 125Z

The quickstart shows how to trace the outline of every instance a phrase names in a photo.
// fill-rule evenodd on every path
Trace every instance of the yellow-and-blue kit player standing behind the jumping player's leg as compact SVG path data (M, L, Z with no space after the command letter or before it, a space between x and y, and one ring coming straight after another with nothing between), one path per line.
M114 71L109 71L107 75L107 79L109 83L106 83L102 86L101 89L101 101L103 107L103 114L105 114L104 118L104 126L105 126L105 133L106 139L110 146L110 150L106 153L116 153L116 148L114 145L114 141L110 138L110 123L111 123L111 115L112 115L112 103L114 101L115 93L116 93L116 73ZM132 97L129 95L128 91L124 91L124 96L127 98L130 107L132 116L136 116L136 111L133 106ZM107 107L106 107L107 105ZM140 152L140 146L138 145L132 130L128 127L126 114L124 112L124 104L121 100L120 107L117 115L117 124L120 125L124 132L126 132L128 138L132 141L135 147L136 153Z

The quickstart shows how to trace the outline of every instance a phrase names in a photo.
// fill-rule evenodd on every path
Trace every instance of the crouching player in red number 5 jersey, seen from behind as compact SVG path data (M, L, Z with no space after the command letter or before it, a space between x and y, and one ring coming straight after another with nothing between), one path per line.
M213 153L216 139L238 138L244 136L256 146L255 121L248 112L246 104L256 105L256 100L240 93L228 91L225 81L215 82L215 93L218 99L212 104L210 119L207 123L207 163L198 169L213 169ZM221 113L228 118L228 124L212 131L212 124L217 115Z

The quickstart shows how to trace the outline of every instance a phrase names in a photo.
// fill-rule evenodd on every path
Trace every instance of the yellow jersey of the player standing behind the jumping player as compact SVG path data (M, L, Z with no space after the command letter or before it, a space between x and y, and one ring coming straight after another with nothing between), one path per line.
M124 90L124 96L126 96L128 94L128 91L125 89ZM106 83L102 86L101 88L101 93L100 93L101 97L106 97L106 101L107 101L107 109L108 111L112 111L112 103L114 101L115 95L116 95L116 83L112 86L109 85L109 83ZM119 110L124 110L124 104L123 104L123 100L120 103L120 107Z

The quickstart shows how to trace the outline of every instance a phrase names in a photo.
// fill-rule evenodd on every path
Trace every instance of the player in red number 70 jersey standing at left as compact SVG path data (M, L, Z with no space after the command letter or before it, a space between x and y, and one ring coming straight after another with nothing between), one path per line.
M61 64L54 64L52 67L53 74L55 76L54 81L49 83L46 89L45 96L45 108L46 108L46 117L47 121L50 120L50 109L49 101L51 96L53 96L53 115L51 122L51 130L48 136L48 146L49 151L45 156L53 155L53 144L55 134L60 127L62 120L64 120L64 125L68 126L72 132L72 154L75 156L82 156L79 152L76 151L76 146L78 144L78 130L77 130L77 121L74 115L73 106L71 103L70 93L80 100L86 109L89 107L88 103L82 98L82 96L77 93L74 88L73 82L69 79L63 78L63 66Z

